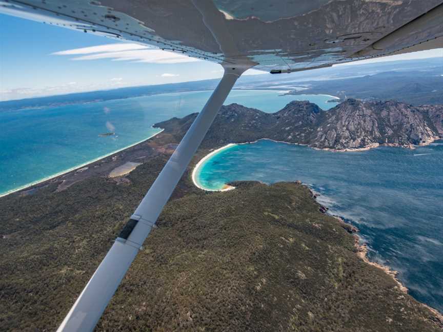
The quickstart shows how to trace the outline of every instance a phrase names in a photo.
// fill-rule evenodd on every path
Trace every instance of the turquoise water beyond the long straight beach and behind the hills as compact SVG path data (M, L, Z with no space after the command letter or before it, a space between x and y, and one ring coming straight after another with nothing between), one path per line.
M232 102L275 112L291 100L329 109L325 95L234 90ZM0 195L124 149L159 132L156 122L199 112L210 91L158 94L19 111L0 110ZM99 137L106 132L115 136Z

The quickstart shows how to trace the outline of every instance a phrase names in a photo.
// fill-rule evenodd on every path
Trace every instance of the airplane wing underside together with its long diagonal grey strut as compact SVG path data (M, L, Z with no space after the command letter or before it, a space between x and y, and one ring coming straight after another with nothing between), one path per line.
M293 72L443 47L443 0L0 0L0 12L213 61L225 69L60 325L63 332L94 329L245 70Z

